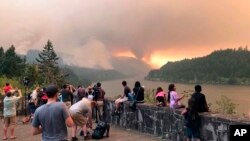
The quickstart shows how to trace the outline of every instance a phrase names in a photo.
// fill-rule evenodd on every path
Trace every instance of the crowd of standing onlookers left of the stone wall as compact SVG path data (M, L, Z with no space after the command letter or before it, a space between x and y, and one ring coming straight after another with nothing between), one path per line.
M15 94L17 93L17 94ZM4 103L4 140L11 126L11 139L15 139L16 103L22 97L20 89L13 89L9 83L3 88ZM16 96L17 95L17 96ZM87 127L92 129L92 113L95 109L98 121L103 120L105 91L98 82L87 90L82 86L74 88L65 84L62 89L55 85L44 88L35 87L28 94L28 108L32 120L33 135L42 133L43 140L68 140L67 127L72 127L72 140L76 137L77 126L82 128L87 138Z

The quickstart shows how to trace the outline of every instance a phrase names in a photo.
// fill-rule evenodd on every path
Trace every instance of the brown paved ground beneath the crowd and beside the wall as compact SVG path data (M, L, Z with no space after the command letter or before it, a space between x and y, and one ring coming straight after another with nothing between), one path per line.
M15 139L15 141L41 141L41 135L37 136L31 135L31 124L23 125L21 119L22 117L18 117L17 126L15 130L15 135L17 138ZM0 122L0 130L1 130L0 140L2 140L3 138L2 121ZM70 129L68 131L70 132ZM83 140L81 136L78 136L78 139ZM93 139L88 139L88 140L93 140ZM152 135L120 128L114 125L111 125L109 137L101 139L101 141L158 141L158 140L161 139L154 137Z

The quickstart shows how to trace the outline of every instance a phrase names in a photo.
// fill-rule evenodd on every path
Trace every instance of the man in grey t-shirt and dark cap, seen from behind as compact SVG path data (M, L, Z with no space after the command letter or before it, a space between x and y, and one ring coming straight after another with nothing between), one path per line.
M57 102L58 87L49 85L46 87L48 97L47 104L40 106L32 121L32 134L42 133L43 141L67 141L67 126L74 125L69 111L63 102Z

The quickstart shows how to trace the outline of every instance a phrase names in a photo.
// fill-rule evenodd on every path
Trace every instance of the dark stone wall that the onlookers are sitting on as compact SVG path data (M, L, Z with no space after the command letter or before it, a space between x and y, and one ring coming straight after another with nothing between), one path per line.
M183 141L184 118L181 110L157 107L152 104L137 104L137 110L129 108L125 102L120 116L112 116L114 100L105 101L105 120L123 128L149 133L171 141ZM250 124L250 121L221 117L218 114L201 114L201 136L205 141L228 141L229 125Z

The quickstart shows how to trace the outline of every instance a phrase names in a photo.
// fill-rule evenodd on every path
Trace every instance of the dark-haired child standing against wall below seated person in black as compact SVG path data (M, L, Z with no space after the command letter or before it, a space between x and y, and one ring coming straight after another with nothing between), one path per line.
M187 137L187 141L191 141L192 138L200 141L200 116L194 103L195 100L193 98L189 99L188 108L182 111L182 115L185 117L185 136Z

